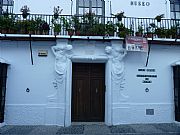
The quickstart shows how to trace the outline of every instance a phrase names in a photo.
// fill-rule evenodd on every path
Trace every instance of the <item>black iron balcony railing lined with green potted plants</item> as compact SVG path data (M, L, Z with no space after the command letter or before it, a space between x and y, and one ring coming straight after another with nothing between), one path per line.
M30 14L0 15L0 33L77 36L180 38L180 20Z

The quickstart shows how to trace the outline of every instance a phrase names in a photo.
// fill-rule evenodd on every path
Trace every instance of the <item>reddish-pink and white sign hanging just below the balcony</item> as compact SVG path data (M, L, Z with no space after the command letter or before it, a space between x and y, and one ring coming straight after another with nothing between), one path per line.
M126 50L147 52L148 41L146 38L143 38L143 37L127 36L126 37Z

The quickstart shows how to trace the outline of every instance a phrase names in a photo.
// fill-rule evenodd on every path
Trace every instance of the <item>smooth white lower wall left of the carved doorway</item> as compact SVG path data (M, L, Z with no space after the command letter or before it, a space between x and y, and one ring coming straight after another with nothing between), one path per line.
M10 63L5 109L7 124L45 124L47 99L54 92L54 57L50 50L54 44L32 42L34 65L31 65L28 41L1 42L0 57ZM48 50L48 57L38 57L41 49Z

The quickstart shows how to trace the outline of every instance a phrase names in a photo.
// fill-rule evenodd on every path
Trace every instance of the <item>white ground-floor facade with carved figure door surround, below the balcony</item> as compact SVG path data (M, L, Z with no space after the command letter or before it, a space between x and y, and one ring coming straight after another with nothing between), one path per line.
M125 51L119 38L51 37L43 41L46 38L32 41L32 59L28 40L0 40L1 63L4 60L9 64L5 124L70 126L73 121L101 121L106 125L175 121L172 65L180 60L179 46L152 43L145 66L147 53ZM84 79L83 74L91 69L83 64L95 64L93 73L96 64L103 67L104 75L93 75L90 80L90 94L83 93L88 88L88 76ZM82 110L82 103L87 102L91 104L90 112L87 108Z

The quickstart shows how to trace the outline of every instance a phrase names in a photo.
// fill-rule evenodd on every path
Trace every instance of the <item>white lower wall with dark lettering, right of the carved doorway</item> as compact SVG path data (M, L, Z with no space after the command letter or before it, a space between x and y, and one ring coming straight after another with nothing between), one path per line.
M148 66L146 54L128 52L125 58L125 92L128 101L121 103L118 92L114 92L113 124L156 123L174 121L174 90L171 64L180 59L177 46L152 45ZM155 72L140 72L138 69L155 69ZM137 75L157 75L145 78ZM148 88L149 92L145 92ZM119 101L118 101L119 100ZM118 101L118 102L117 102ZM154 115L146 115L146 109L154 109Z

